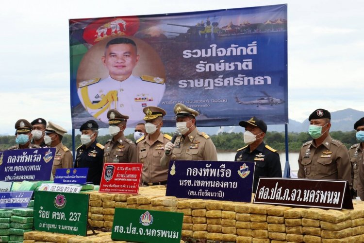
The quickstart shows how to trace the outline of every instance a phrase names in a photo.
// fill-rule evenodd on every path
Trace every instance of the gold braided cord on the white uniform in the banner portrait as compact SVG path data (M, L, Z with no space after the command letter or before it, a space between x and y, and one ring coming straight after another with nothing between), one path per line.
M100 109L103 107L101 110L99 110L97 113L95 113L93 115L95 118L98 118L101 113L108 110L110 108L110 105L112 104L112 102L115 103L115 107L116 107L117 90L109 91L104 97L102 97L102 99L97 104L92 104L92 102L90 101L90 98L88 97L88 87L87 86L81 88L81 95L82 95L82 99L83 99L84 105L86 107L86 110L87 110L87 108L90 108L92 110L97 110L97 109Z

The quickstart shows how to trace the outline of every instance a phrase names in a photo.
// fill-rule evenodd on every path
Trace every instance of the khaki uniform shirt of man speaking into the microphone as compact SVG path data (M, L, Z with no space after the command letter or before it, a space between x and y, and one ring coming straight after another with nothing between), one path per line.
M210 137L197 130L197 127L183 138L177 137L172 153L167 156L163 155L161 166L168 168L169 160L207 160L217 161L217 152L213 141Z

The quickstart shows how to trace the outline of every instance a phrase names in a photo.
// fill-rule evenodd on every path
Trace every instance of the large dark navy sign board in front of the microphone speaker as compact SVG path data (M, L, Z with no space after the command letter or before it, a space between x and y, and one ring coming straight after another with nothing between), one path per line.
M254 162L171 160L166 196L251 202Z

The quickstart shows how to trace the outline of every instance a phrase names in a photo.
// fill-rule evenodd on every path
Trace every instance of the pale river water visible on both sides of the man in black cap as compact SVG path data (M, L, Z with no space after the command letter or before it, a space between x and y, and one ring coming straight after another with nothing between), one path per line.
M217 153L218 161L234 161L236 152L220 152ZM289 166L291 167L291 176L297 175L298 172L298 156L299 153L288 153ZM280 153L282 174L284 172L284 165L286 163L286 154Z

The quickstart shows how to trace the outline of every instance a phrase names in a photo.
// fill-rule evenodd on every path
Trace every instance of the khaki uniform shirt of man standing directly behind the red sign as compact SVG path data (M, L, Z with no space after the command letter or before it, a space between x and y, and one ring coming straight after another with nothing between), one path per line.
M121 136L117 141L107 141L104 148L105 163L138 163L136 145L132 140Z

